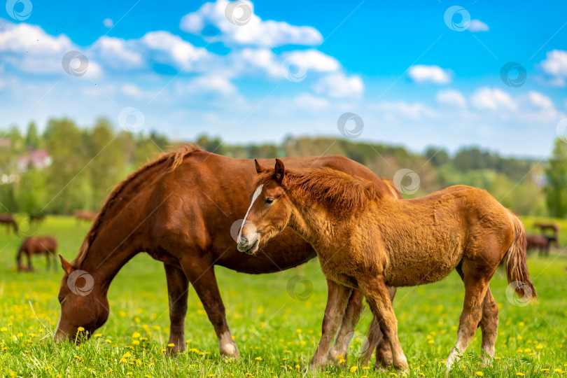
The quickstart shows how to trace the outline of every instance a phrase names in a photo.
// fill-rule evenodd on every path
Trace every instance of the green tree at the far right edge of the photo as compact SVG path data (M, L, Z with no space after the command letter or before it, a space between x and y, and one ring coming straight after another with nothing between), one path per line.
M549 215L565 218L567 215L567 143L556 139L552 157L545 169L545 200Z

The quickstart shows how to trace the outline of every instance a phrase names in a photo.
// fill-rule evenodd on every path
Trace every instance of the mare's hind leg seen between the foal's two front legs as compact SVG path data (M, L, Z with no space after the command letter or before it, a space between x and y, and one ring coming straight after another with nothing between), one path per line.
M335 337L335 342L329 351L331 363L335 363L338 356L342 356L346 360L346 353L351 342L354 328L360 318L360 313L364 309L363 297L358 290L352 290L349 303L346 305L346 312L342 318L339 333Z

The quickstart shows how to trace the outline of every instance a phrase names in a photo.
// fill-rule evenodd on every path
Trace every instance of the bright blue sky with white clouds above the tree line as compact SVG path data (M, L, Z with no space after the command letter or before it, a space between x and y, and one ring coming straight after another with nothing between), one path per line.
M8 0L0 127L106 116L176 139L278 142L340 137L337 119L351 112L364 121L360 140L545 157L567 117L566 10L561 1ZM505 83L508 62L525 80L512 69Z

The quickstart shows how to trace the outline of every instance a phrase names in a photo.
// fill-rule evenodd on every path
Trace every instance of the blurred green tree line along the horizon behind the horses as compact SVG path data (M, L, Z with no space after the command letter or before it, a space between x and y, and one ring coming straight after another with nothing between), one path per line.
M12 127L0 139L0 202L6 212L70 214L76 209L97 210L113 186L168 146L181 144L162 134L117 131L104 118L92 127L78 127L73 120L52 119L43 133L34 123L22 134ZM218 137L202 135L200 148L232 158L276 158L299 155L344 155L392 179L399 169L419 175L425 195L447 186L476 186L491 193L505 207L520 215L567 216L567 143L557 139L547 162L507 158L477 147L464 147L454 155L430 147L423 153L403 146L328 137L288 137L281 144L225 144ZM22 157L45 150L47 167ZM11 175L11 176L10 176ZM18 177L11 180L10 177ZM8 179L6 179L8 177Z

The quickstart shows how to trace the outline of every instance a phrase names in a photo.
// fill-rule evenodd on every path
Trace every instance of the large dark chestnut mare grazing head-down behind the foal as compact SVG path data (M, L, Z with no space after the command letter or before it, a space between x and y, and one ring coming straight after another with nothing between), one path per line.
M284 161L297 169L340 169L374 182L385 197L399 196L391 183L342 156ZM186 147L179 153L162 155L120 183L100 210L75 260L69 263L62 259L65 275L59 291L61 317L56 339L75 339L78 327L85 328L89 335L101 327L109 316L107 293L111 281L128 260L146 251L165 267L171 321L168 344L175 345L170 351L185 349L184 324L191 283L214 326L221 354L239 356L225 318L214 265L262 274L289 269L316 256L313 248L292 230L284 230L256 257L242 258L230 230L248 206L253 169L253 160L225 158ZM76 295L68 287L67 278L76 269L92 275L94 287L89 295ZM359 293L351 297L350 304L337 339L344 339L354 330L363 307ZM380 336L371 336L377 344ZM336 353L345 356L345 345L348 340L337 343ZM377 353L380 358L384 355L387 362L389 346L380 346Z

